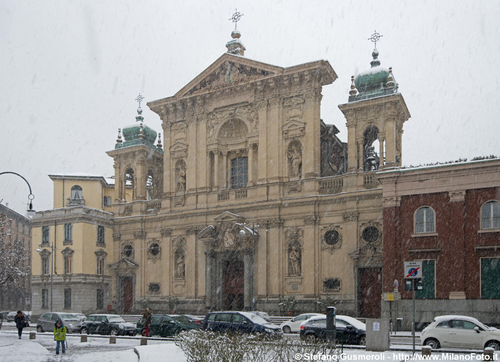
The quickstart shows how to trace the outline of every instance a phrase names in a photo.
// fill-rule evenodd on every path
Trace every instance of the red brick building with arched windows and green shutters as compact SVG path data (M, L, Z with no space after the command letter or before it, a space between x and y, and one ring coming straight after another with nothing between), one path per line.
M465 314L500 323L500 159L393 169L377 177L383 186L382 289L392 292L398 280L397 316L404 326L412 318L411 291L403 287L409 260L422 260L417 322ZM388 310L382 301L382 316Z

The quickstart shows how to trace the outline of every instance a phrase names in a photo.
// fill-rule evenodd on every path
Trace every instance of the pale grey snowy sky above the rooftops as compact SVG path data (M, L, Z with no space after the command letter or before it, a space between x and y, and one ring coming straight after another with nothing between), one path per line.
M104 152L134 121L160 131L145 102L173 95L222 53L238 8L245 56L278 66L317 59L338 75L323 87L321 117L366 70L374 30L411 118L406 165L500 155L500 5L490 1L18 1L0 2L0 171L22 174L36 210L52 207L49 173L114 174ZM0 199L23 213L28 189L0 176Z

